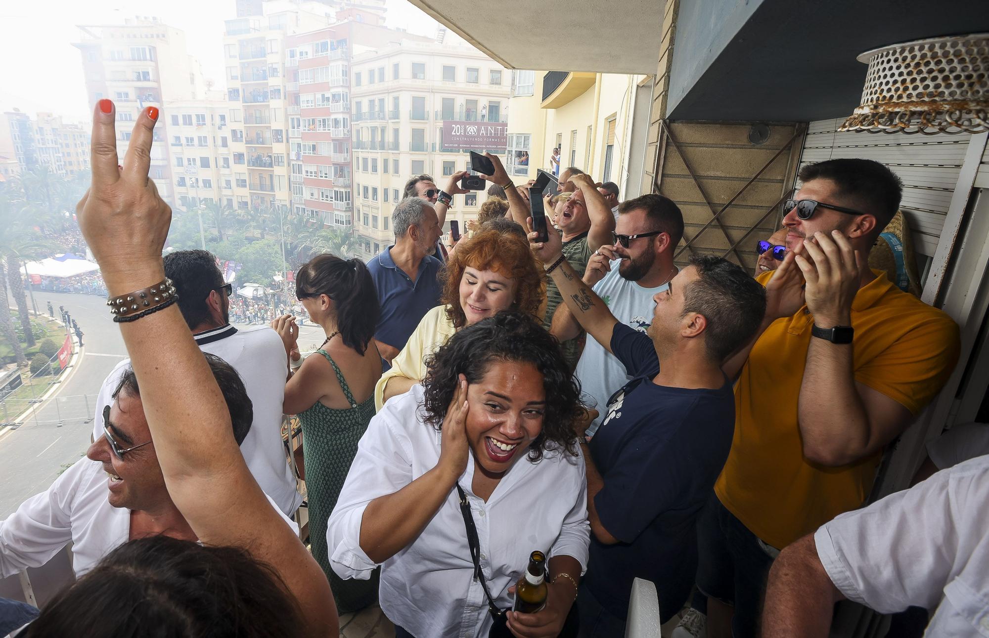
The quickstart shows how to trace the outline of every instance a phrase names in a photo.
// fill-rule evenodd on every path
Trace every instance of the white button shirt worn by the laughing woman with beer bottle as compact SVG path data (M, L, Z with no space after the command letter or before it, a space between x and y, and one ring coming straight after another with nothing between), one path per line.
M357 456L326 529L330 565L341 578L370 578L376 564L360 547L361 518L368 503L394 494L439 461L440 433L419 413L422 386L388 400L361 438ZM474 496L474 463L458 483L471 502L481 544L481 566L499 608L510 608L508 586L529 554L572 556L587 563L584 459L547 451L538 463L518 459L487 503ZM383 563L381 608L414 636L487 636L488 601L467 543L456 490L405 549ZM573 575L575 578L578 575Z

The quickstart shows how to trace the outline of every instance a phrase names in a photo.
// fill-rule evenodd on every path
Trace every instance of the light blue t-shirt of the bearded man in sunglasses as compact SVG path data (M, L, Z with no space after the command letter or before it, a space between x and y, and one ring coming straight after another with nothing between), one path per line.
M669 283L655 288L644 288L635 281L629 281L618 273L621 260L611 261L611 271L594 284L597 293L608 310L619 323L623 323L639 332L646 332L653 319L653 308L656 302L653 295L670 287ZM595 339L587 339L584 353L577 362L574 374L581 380L581 389L589 395L600 413L591 422L587 430L588 436L593 436L601 421L607 416L608 398L632 380L626 374L625 366L615 356L604 349Z

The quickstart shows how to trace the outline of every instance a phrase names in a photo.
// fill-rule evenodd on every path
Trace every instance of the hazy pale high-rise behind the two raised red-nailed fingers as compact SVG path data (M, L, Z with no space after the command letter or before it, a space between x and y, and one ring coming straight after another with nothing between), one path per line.
M157 18L129 18L123 25L79 25L86 93L90 106L108 98L117 108L117 152L127 153L135 118L148 106L203 98L199 63L186 49L185 33ZM156 126L150 177L162 198L174 203L167 124Z

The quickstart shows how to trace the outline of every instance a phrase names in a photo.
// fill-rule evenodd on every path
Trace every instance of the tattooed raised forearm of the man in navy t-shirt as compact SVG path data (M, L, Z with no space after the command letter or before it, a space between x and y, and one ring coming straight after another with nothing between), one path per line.
M532 232L532 220L526 220L526 227L529 230L529 241L532 243L532 252L543 263L545 268L550 268L557 263L563 255L563 240L559 233L549 233L549 241L545 244L536 242L537 233ZM573 313L581 327L587 334L597 340L604 350L611 352L611 334L614 332L615 324L618 320L608 310L607 305L601 301L591 286L584 283L581 276L574 271L574 268L564 259L549 273L550 279L556 283L560 290L567 308ZM554 317L555 318L555 317Z

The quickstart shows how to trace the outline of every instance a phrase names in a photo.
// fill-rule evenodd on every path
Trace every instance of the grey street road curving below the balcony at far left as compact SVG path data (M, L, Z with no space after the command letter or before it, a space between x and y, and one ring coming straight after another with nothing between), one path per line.
M44 492L65 467L86 453L96 395L103 379L127 357L124 340L103 297L36 291L35 299L42 312L51 301L56 316L58 306L65 306L82 329L83 356L36 415L16 431L0 436L0 519L7 518L29 497ZM309 322L300 332L299 345L304 352L317 348L324 338L322 329Z

